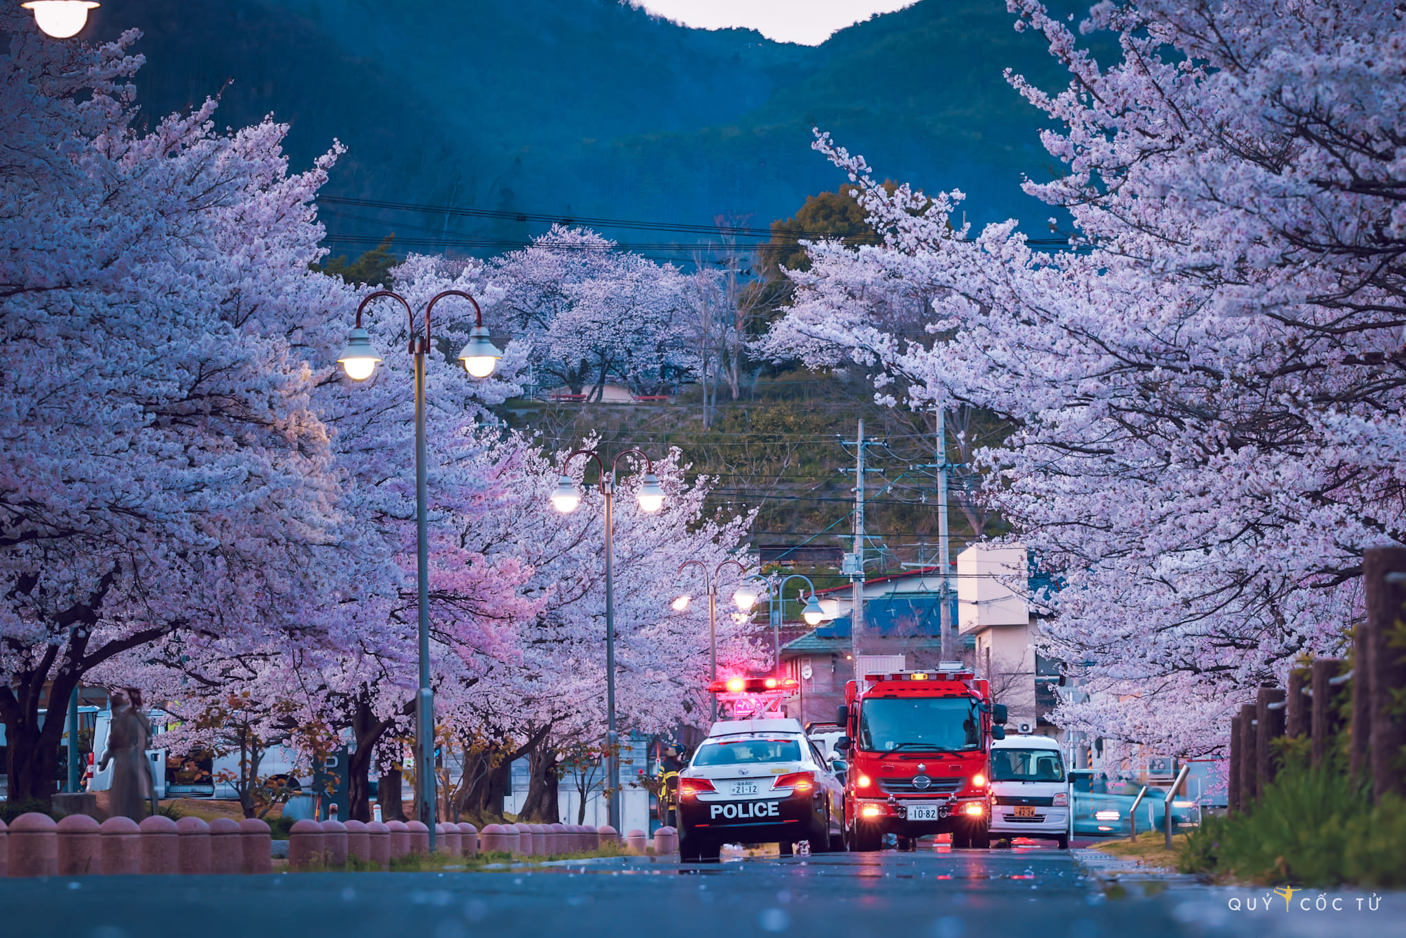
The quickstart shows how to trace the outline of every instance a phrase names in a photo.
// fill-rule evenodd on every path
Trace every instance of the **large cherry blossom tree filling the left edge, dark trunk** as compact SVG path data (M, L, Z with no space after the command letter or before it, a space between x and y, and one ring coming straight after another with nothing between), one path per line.
M0 31L0 717L10 796L48 799L44 698L177 634L315 633L354 582L299 349L349 297L309 270L336 150L288 173L284 125L212 101L134 131L135 32Z

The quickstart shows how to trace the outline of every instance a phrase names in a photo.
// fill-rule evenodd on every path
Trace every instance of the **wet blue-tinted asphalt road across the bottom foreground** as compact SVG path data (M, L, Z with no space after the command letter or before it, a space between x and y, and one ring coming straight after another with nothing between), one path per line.
M1310 900L1319 893L1302 893ZM1272 900L1232 911L1232 899ZM1109 883L1050 848L748 859L645 858L482 873L0 880L0 935L65 938L1268 938L1406 934L1375 913L1285 908L1268 890ZM1299 896L1295 896L1295 906ZM1329 901L1331 896L1329 897ZM1312 901L1310 901L1312 906Z

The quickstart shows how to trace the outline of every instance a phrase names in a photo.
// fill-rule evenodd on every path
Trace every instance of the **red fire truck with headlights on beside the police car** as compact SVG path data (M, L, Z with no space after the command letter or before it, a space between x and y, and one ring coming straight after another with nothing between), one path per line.
M1005 706L960 665L865 675L845 685L835 748L849 759L845 838L875 851L889 840L952 834L953 847L990 847L991 740L1005 738Z

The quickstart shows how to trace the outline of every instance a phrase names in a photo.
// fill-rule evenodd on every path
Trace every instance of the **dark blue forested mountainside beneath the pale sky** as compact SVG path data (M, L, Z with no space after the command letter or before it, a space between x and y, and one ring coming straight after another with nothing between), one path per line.
M101 38L143 30L149 117L221 94L221 124L290 121L295 166L343 141L329 195L765 226L842 181L810 149L818 124L882 173L969 193L976 221L1040 231L1049 215L1018 190L1047 159L1039 114L1002 69L1057 76L1001 0L924 0L818 48L613 0L238 0L200 17L181 0L124 0L94 21ZM402 246L472 253L541 231L330 204L323 218L343 239L395 231ZM631 239L665 252L699 236Z

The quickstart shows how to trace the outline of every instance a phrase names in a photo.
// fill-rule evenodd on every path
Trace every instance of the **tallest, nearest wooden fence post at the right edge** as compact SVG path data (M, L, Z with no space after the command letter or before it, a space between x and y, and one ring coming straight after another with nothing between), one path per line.
M1364 735L1369 734L1372 796L1381 799L1391 792L1406 793L1406 780L1402 779L1396 765L1406 747L1406 716L1398 713L1395 706L1395 698L1406 693L1406 648L1399 644L1399 638L1406 638L1406 626L1402 626L1406 610L1406 547L1368 550L1362 563L1362 577L1367 589L1369 641L1367 655L1369 730ZM1357 675L1364 671L1361 661L1355 661L1353 668ZM1355 705L1353 717L1357 717ZM1358 728L1353 727L1354 741L1357 735Z

